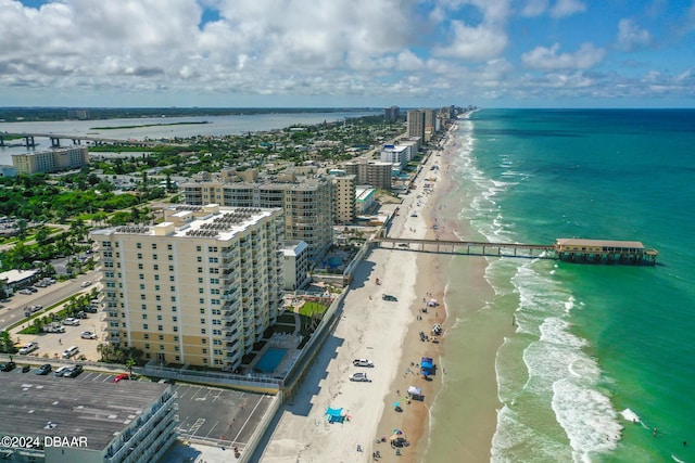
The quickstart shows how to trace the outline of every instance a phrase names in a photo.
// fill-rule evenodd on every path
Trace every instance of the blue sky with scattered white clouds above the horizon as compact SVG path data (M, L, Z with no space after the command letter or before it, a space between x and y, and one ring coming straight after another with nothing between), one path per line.
M0 106L694 107L695 0L0 0Z

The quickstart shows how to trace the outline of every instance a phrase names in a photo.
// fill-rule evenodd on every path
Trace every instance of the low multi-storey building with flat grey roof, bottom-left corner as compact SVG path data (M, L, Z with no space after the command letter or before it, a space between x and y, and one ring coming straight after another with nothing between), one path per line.
M12 398L0 401L3 461L149 463L174 443L178 407L172 386L78 383L70 390L53 375L3 374L2 393ZM25 443L5 446L11 436Z

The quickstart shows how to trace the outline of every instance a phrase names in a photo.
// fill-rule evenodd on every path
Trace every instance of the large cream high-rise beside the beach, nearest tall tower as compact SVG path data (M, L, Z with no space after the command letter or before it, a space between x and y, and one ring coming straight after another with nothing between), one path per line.
M108 340L144 360L233 371L282 307L282 211L173 206L90 234Z

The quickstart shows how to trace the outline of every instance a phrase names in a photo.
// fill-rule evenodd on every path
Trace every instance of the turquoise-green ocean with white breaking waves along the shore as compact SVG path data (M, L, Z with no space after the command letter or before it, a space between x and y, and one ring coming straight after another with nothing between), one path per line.
M445 381L477 333L515 323L495 356L492 461L695 462L695 111L482 110L456 137L462 237L659 252L654 267L489 259L494 295L472 316L450 273ZM445 384L430 446L457 448L465 394Z

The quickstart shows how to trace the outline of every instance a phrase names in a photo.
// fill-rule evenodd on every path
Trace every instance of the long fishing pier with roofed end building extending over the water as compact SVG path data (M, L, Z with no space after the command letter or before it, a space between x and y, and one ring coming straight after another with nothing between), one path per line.
M375 237L379 247L465 256L555 259L577 263L654 266L659 254L639 241L557 239L555 244Z

